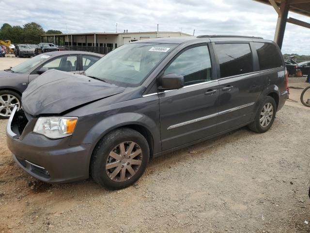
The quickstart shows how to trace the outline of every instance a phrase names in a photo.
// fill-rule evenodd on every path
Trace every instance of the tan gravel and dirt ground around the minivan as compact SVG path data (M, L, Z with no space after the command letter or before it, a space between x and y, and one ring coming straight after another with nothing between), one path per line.
M242 128L156 158L119 191L32 178L13 162L0 120L0 233L310 232L309 116L287 102L268 132Z

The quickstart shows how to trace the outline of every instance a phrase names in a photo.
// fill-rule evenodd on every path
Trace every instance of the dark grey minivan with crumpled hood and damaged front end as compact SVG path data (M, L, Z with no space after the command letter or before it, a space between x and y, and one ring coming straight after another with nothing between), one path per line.
M279 47L257 37L125 44L75 75L50 70L7 125L16 163L45 182L93 179L119 189L148 161L248 125L272 126L287 98Z

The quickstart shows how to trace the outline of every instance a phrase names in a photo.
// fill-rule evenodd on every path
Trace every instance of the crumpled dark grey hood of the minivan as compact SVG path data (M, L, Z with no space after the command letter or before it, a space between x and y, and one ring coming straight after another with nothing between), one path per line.
M84 75L48 70L32 81L22 95L22 106L32 116L60 114L79 105L124 91Z

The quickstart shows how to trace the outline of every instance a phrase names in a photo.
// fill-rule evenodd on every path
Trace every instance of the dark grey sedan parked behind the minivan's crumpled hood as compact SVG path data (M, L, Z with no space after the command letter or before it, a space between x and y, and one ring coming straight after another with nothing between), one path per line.
M20 107L22 92L33 79L48 69L81 73L102 56L83 51L48 52L16 67L0 70L0 119L9 118L15 105Z

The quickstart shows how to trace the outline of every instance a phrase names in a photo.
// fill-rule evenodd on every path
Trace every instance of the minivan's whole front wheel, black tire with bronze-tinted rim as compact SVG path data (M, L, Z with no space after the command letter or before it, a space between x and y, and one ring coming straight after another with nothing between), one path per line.
M135 183L150 158L147 140L139 132L116 129L105 135L93 150L91 175L108 189L121 189Z

